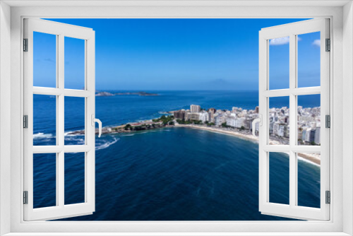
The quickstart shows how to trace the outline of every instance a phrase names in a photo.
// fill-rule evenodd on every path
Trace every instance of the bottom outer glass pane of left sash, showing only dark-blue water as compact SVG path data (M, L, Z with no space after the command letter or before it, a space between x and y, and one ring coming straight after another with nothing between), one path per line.
M56 206L56 153L33 154L33 208Z

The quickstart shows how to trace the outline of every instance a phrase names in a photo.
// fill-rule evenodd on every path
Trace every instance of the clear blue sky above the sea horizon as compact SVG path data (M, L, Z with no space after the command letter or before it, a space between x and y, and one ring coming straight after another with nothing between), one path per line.
M257 90L258 31L302 19L51 19L96 33L99 90ZM34 85L55 84L55 37L35 35ZM320 85L319 33L299 35L299 86ZM82 88L83 40L65 40L65 87ZM270 88L289 85L289 45L270 45Z

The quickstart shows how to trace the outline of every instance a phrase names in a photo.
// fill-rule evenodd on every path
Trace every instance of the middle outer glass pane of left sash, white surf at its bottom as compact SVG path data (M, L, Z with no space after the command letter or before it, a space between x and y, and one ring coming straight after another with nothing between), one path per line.
M33 145L56 145L56 96L33 95Z

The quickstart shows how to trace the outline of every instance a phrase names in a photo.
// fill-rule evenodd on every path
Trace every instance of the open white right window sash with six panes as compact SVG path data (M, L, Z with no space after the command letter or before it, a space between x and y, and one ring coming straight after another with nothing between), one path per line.
M297 219L330 219L330 205L325 202L325 191L330 191L330 129L325 128L325 115L330 115L330 52L325 50L325 40L330 39L328 18L304 20L296 23L263 28L259 33L259 108L263 121L259 130L259 210L263 214ZM321 85L298 87L298 35L320 32L321 35ZM289 88L270 89L270 40L289 37ZM321 146L297 145L297 114L299 95L321 95ZM289 145L270 145L270 99L289 98ZM270 202L270 153L289 153L289 204ZM298 153L321 154L320 208L298 206Z

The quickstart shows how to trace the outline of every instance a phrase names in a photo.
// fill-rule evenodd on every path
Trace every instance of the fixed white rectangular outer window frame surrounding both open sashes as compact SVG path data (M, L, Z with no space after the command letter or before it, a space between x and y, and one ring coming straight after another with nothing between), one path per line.
M11 198L11 207L6 207L1 203L1 210L5 209L8 215L11 214L10 220L0 218L1 223L11 223L6 227L7 232L12 232L12 235L17 235L16 232L46 232L49 235L51 232L63 232L62 235L70 235L73 232L101 232L97 235L102 235L102 232L138 232L138 235L148 235L151 232L153 235L173 235L172 232L180 232L180 235L210 235L208 232L213 232L212 235L241 235L241 232L253 232L253 235L266 235L266 232L273 232L270 235L294 235L291 232L297 232L296 235L304 235L304 232L312 232L312 235L346 235L353 233L353 212L352 212L352 124L347 124L345 129L342 129L342 104L345 106L346 114L352 112L352 95L349 94L352 88L351 65L352 60L352 5L345 2L335 1L303 1L298 3L285 4L282 6L274 6L273 1L263 1L261 6L256 6L256 3L246 3L239 1L237 3L217 3L215 1L196 4L195 2L179 4L179 6L170 6L173 3L165 4L164 6L156 6L153 1L146 1L145 6L103 6L107 4L102 1L102 7L95 6L80 6L73 7L75 4L82 4L76 1L68 3L67 1L59 1L56 7L53 6L38 6L38 2L27 1L28 6L11 8L11 17L5 12L6 20L11 21L11 64L8 61L0 61L1 66L11 65L11 84L4 83L6 88L11 89L11 105L6 106L4 101L1 102L1 111L11 111L11 163L4 156L1 156L1 163L6 164L1 166L1 174L5 175L0 179L0 187L2 199ZM104 3L105 2L105 3ZM7 1L12 4L11 1ZM23 2L13 1L13 4L23 4ZM32 5L31 5L32 4ZM36 5L37 4L37 5ZM43 3L40 3L43 4ZM61 6L58 6L60 5ZM67 6L71 4L71 6ZM88 3L89 4L89 3ZM96 3L97 4L97 3ZM112 4L112 3L110 3ZM124 5L123 3L119 3ZM125 3L126 4L126 3ZM148 4L150 6L148 6ZM175 4L175 3L174 3ZM204 5L203 5L204 4ZM233 4L233 5L232 5ZM302 5L302 4L305 4ZM342 7L347 4L345 7ZM7 9L8 6L1 3L1 8ZM99 4L98 4L99 5ZM117 5L117 4L116 4ZM132 4L133 5L133 4ZM147 6L146 6L147 5ZM169 6L168 6L169 5ZM177 4L178 5L178 4ZM243 6L241 6L243 5ZM252 6L249 6L252 5ZM255 6L254 6L255 5ZM285 5L285 6L284 6ZM309 5L309 6L308 6ZM325 6L323 6L325 5ZM34 7L33 7L34 6ZM285 17L284 17L285 16ZM342 16L345 17L343 21ZM331 39L333 40L333 53L330 55L331 64L331 86L330 93L333 98L330 100L331 108L333 109L332 116L332 132L330 134L333 142L330 144L331 179L330 189L332 190L332 202L330 204L330 221L308 221L308 222L263 222L263 221L238 221L238 222L24 222L23 221L23 205L22 205L22 190L23 183L23 137L22 110L23 104L23 54L20 52L21 39L23 38L23 18L25 17L40 17L40 18L318 18L328 17L331 20ZM1 24L4 24L2 21ZM8 30L0 28L1 33L5 30L6 35ZM6 36L5 35L5 36ZM7 36L8 37L8 36ZM9 44L0 41L0 48L4 49ZM343 48L345 50L342 50ZM1 51L4 52L4 51ZM4 59L4 54L0 55ZM345 61L343 61L345 58ZM1 67L1 70L3 67ZM8 73L7 70L4 73ZM344 75L344 76L343 76ZM1 80L3 80L1 76ZM343 86L343 83L347 87ZM348 86L349 85L349 86ZM345 92L347 100L342 100L342 93ZM1 94L0 94L1 95ZM343 103L342 103L343 102ZM11 109L10 109L11 108ZM1 114L2 115L2 114ZM337 117L337 119L335 119ZM2 117L1 117L2 118ZM349 122L349 118L346 118ZM350 120L351 121L351 120ZM3 123L1 123L3 127ZM10 129L7 129L10 131ZM347 139L345 143L348 145L342 146L343 136ZM4 142L0 143L1 148L4 147ZM345 151L345 153L343 152ZM343 155L345 154L345 155ZM346 155L347 154L347 155ZM349 155L349 156L348 156ZM11 164L11 165L10 165ZM11 168L11 172L6 171L6 167ZM11 178L11 184L6 184ZM344 187L344 188L343 188ZM8 191L4 191L8 190ZM345 207L343 207L345 205ZM11 222L9 222L11 221ZM65 233L66 232L66 233ZM150 232L150 233L148 233ZM188 233L189 232L189 233ZM116 233L117 234L117 233ZM178 235L179 235L178 234ZM22 234L23 235L23 234ZM95 235L95 234L91 234ZM131 234L130 234L131 235ZM248 233L247 235L252 235ZM305 235L310 235L306 233Z

